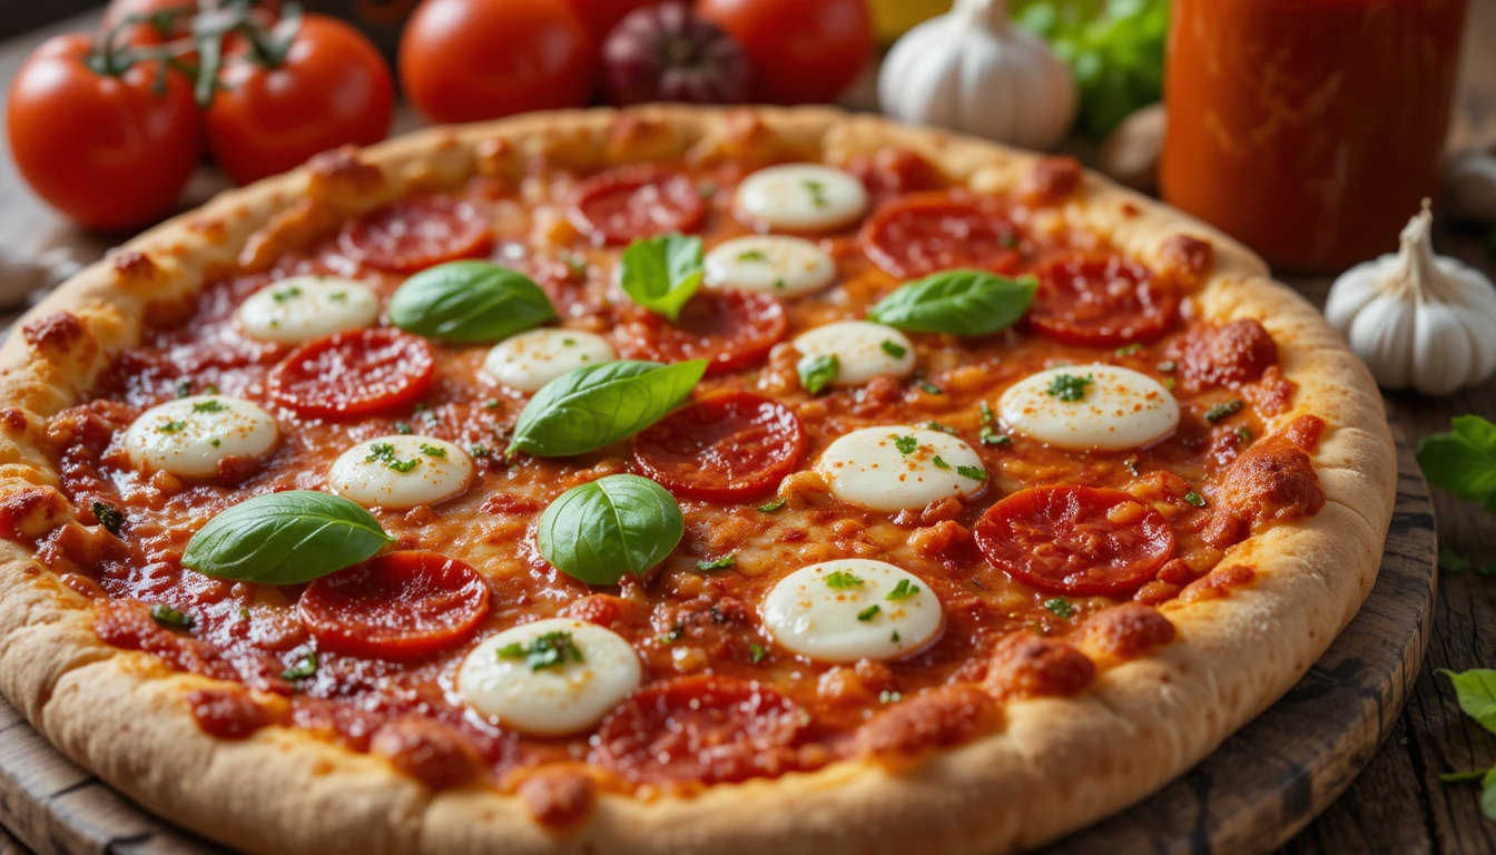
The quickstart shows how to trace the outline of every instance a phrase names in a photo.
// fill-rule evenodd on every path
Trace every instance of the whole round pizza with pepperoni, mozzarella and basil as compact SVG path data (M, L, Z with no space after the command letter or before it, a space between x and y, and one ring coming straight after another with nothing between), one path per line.
M826 109L328 153L0 359L0 687L253 852L1031 848L1309 668L1396 473L1231 240Z

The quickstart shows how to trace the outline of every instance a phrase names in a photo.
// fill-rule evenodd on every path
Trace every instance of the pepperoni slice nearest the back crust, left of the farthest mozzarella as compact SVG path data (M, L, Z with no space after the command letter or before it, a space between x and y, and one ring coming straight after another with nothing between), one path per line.
M592 175L576 187L571 225L594 243L624 246L660 232L690 232L706 205L696 183L654 166L622 166Z

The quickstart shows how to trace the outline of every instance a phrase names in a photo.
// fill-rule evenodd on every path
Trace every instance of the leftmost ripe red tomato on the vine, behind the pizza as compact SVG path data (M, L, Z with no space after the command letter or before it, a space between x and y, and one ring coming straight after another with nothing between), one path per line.
M10 81L10 154L27 184L93 229L132 229L172 210L202 160L191 84L142 61L121 73L88 67L91 39L57 36Z

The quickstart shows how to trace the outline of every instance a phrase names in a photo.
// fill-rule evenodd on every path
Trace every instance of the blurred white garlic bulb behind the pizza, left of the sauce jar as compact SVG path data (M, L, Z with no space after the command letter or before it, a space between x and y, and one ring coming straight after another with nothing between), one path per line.
M878 102L904 121L1047 150L1076 118L1076 81L1043 39L1011 25L1007 0L956 0L893 45Z

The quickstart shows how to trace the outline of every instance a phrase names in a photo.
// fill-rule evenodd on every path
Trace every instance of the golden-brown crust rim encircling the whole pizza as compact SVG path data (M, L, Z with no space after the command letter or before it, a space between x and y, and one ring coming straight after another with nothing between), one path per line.
M28 427L0 427L0 502L57 484L39 443L45 419L78 401L111 355L138 340L151 301L193 292L209 268L266 261L413 189L473 174L518 177L534 159L844 162L890 142L981 190L1013 187L1037 157L829 109L651 108L434 129L322 156L226 193L90 267L18 326L66 310L82 320L81 334L9 337L0 350L0 409L24 410ZM130 798L254 852L990 854L1119 810L1272 704L1349 621L1375 581L1396 463L1364 367L1309 304L1267 279L1254 255L1095 175L1056 217L1086 223L1143 259L1158 258L1180 232L1213 244L1209 282L1186 310L1216 320L1255 317L1273 334L1285 376L1300 386L1297 406L1273 427L1305 412L1325 419L1313 463L1328 502L1318 515L1228 553L1224 563L1257 570L1252 585L1224 599L1164 605L1179 630L1174 644L1106 668L1080 696L1008 702L996 735L902 771L847 761L715 786L696 798L604 795L585 824L557 836L540 830L518 798L486 789L434 794L381 759L301 731L271 726L239 743L205 735L184 693L211 681L102 644L88 602L13 542L0 542L0 690ZM69 514L55 500L27 508L27 533Z

